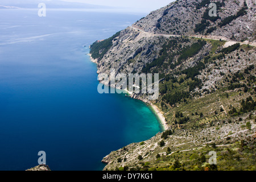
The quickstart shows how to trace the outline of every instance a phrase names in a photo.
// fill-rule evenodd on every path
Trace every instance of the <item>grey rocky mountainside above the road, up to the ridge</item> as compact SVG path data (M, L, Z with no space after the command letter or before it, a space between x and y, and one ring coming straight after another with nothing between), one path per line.
M255 1L210 1L217 3L217 18L213 20L205 19L209 24L205 30L195 32L195 28L207 15L209 11L209 1L206 0L180 0L170 3L162 9L152 11L149 15L133 26L146 32L155 34L173 35L205 35L207 30L212 28L209 36L223 36L236 41L255 41ZM246 5L246 13L234 18L225 26L220 26L220 22L226 17L236 15Z

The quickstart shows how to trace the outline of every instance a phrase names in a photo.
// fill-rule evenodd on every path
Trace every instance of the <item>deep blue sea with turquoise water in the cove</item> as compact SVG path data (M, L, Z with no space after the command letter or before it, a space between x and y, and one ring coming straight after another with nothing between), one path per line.
M162 128L141 101L97 92L89 45L141 14L0 10L0 170L102 170L101 159ZM84 47L86 46L86 47Z

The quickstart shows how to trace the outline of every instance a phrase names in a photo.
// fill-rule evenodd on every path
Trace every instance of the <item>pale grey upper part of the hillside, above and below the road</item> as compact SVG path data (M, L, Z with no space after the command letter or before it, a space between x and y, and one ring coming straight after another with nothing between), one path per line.
M245 44L256 46L256 6L253 0L217 2L216 18L208 15L209 0L175 1L153 11L112 38L94 43L91 53L93 59L97 59L98 73L109 73L111 68L122 73L139 73L147 63L159 57L160 49L170 38L181 39L177 40L179 47L175 51L188 46L184 39L189 36L222 39L228 43L231 40L245 41ZM236 18L232 16L234 10L239 15ZM202 23L205 21L207 23ZM229 23L224 26L224 22ZM207 33L209 30L212 32ZM191 39L189 41L192 42ZM205 47L209 47L209 44Z

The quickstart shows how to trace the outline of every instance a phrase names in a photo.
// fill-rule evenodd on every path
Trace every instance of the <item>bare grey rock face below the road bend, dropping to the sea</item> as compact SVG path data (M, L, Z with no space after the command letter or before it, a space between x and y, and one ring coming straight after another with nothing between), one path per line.
M158 57L164 39L132 27L126 28L98 61L98 73L109 73L110 69L119 73L140 72L145 64Z

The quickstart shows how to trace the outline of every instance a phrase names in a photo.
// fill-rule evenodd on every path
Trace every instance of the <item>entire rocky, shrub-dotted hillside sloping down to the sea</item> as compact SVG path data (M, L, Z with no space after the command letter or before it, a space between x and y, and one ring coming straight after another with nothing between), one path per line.
M106 170L255 170L255 2L212 2L216 17L208 0L175 1L90 47L98 73L159 73L151 104L169 127L113 151Z

